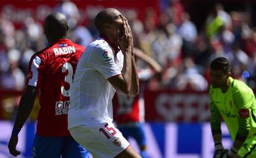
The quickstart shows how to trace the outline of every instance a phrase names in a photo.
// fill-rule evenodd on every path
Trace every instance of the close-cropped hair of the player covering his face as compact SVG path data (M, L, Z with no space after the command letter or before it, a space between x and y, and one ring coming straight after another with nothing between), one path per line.
M113 22L114 20L113 13L112 13L113 9L114 8L106 8L98 12L98 14L96 15L94 19L94 25L100 33L103 33L104 31L103 28L105 23Z

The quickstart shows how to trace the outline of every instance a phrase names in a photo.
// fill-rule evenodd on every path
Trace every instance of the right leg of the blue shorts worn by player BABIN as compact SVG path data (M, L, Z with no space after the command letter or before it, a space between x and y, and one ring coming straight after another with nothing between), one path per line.
M62 158L89 158L89 152L72 138L66 136L62 146Z

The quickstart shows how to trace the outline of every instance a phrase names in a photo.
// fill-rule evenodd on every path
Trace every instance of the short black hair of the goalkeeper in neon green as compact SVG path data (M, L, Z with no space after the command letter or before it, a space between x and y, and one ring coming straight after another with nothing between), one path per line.
M231 70L231 64L225 57L217 57L211 61L211 70L223 70L224 73L228 73Z

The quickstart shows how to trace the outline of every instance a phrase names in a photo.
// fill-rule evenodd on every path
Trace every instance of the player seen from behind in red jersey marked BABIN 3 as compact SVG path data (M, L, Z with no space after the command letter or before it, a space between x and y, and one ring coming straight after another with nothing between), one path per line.
M33 157L89 157L67 130L70 85L77 62L85 50L67 39L67 20L59 12L45 19L45 35L49 46L36 52L28 65L27 88L19 103L17 118L9 141L9 152L18 156L18 134L30 114L40 91L40 110Z

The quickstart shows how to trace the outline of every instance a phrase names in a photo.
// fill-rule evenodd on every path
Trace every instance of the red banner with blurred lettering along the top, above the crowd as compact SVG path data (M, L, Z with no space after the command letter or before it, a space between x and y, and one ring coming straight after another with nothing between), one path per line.
M159 0L86 0L72 1L77 6L80 12L80 24L87 24L94 19L96 13L105 7L114 7L121 10L122 14L136 14L137 19L144 20L148 9L159 12ZM0 11L7 19L14 22L16 27L20 27L27 17L33 17L38 22L43 22L46 15L52 12L60 5L60 1L46 0L9 0L0 1Z

